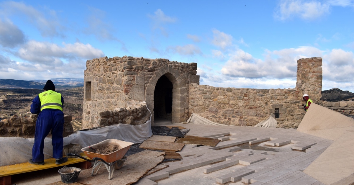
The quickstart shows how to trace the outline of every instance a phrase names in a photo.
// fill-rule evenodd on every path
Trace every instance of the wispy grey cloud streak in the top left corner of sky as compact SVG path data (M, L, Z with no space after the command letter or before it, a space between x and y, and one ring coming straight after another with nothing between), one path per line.
M15 1L1 2L0 7L1 15L4 17L25 15L28 21L39 29L43 37L62 36L60 30L63 26L59 23L54 10L47 10L47 14L44 15L32 6Z

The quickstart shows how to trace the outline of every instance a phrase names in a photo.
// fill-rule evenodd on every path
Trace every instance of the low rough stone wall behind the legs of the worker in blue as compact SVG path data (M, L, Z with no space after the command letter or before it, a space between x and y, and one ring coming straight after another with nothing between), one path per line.
M71 120L71 115L64 115L64 137L73 133L73 127L70 123ZM36 121L36 114L31 114L29 117L18 117L17 115L13 115L9 119L2 119L0 121L0 136L34 138ZM48 136L51 137L51 135Z

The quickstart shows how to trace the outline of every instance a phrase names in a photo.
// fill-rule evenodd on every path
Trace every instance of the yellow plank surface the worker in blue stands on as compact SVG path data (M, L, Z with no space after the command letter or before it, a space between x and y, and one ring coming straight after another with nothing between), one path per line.
M80 153L80 155L82 157L88 158L84 153ZM19 163L19 164L13 164L8 166L0 166L0 177L26 173L26 172L33 172L37 170L54 168L59 166L65 166L65 165L79 163L79 162L86 162L86 161L84 159L76 157L76 158L68 158L68 162L62 164L55 164L55 158L50 158L44 160L44 165L30 164L26 162L26 163Z

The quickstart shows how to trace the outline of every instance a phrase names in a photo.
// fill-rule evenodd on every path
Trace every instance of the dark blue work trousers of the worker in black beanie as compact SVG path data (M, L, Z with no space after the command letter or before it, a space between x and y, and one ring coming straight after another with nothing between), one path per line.
M33 162L44 161L44 139L52 130L53 158L63 157L64 113L57 109L43 109L37 118L34 145L32 148Z

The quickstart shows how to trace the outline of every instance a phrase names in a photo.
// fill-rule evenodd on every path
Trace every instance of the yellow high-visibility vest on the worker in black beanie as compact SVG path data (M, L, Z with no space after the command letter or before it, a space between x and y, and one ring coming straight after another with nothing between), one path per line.
M41 111L45 108L53 108L63 111L62 95L58 92L47 90L39 95L41 101Z

